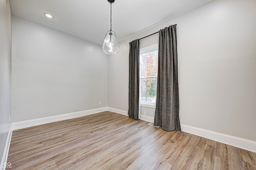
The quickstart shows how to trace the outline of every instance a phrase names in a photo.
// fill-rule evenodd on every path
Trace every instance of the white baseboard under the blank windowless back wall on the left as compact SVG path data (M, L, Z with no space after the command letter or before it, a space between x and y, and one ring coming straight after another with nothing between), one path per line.
M56 115L56 116L51 116L51 117L43 117L40 119L32 119L28 121L21 121L21 122L15 122L12 123L12 130L17 130L20 128L27 128L27 127L32 127L36 125L42 125L46 123L52 123L52 122L57 122L57 121L62 121L66 119L73 119L76 117L82 117L86 115L92 115L95 113L100 113L107 111L107 107L101 107L97 109L90 109L86 111L79 111L79 112L74 112L74 113L67 113L63 115Z

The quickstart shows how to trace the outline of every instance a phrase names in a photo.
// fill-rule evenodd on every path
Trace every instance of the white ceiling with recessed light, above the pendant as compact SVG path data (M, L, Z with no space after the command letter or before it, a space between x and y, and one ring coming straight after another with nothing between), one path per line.
M118 42L213 0L115 0L112 31ZM10 0L12 15L102 45L110 30L108 0ZM48 19L50 13L54 19ZM175 24L175 23L170 23ZM156 30L158 31L158 30Z

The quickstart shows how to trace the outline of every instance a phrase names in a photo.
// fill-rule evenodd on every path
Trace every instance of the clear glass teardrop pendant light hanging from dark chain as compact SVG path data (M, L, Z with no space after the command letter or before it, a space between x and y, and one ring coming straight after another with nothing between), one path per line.
M116 33L112 31L112 3L115 0L108 0L110 2L110 31L107 32L104 42L102 44L102 50L105 54L114 55L119 51L119 44L116 38Z

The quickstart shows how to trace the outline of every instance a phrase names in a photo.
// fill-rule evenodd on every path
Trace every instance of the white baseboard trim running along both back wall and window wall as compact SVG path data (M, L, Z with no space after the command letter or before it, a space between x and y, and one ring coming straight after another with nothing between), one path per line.
M42 125L46 123L51 123L51 122L56 122L56 121L62 121L66 119L72 119L76 117L82 117L86 115L92 115L104 111L111 111L114 113L119 113L121 115L126 115L128 116L128 111L120 110L120 109L115 109L112 107L102 107L102 108L97 108L97 109L91 109L91 110L86 110L86 111L79 111L79 112L74 112L74 113L68 113L68 114L63 114L63 115L56 115L52 117L44 117L41 119L33 119L29 121L22 121L22 122L16 122L12 123L12 130L17 130L20 128L26 128L26 127L32 127L36 125ZM154 118L152 117L146 117L144 115L141 115L141 120L147 121L150 123L154 122ZM197 136L201 136L204 138L208 138L217 142L221 142L224 144L228 144L231 146L235 146L238 148L242 148L245 150L249 150L251 152L256 152L256 141L252 140L247 140L244 138L239 138L236 136L230 136L227 134L222 134L202 128L197 128L197 127L192 127L189 125L182 125L181 124L181 130L183 132L188 132L190 134L194 134Z

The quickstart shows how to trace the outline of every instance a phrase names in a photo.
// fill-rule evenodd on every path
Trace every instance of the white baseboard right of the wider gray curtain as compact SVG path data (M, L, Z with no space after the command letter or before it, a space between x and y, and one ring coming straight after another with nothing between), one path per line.
M210 130L205 130L202 128L192 127L188 125L181 124L180 126L183 132L188 132L196 136L201 136L203 138L208 138L217 142L235 146L237 148L249 150L251 152L256 152L256 141L238 138L235 136L230 136L228 134L213 132Z

